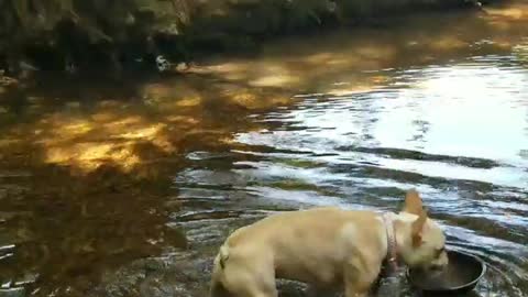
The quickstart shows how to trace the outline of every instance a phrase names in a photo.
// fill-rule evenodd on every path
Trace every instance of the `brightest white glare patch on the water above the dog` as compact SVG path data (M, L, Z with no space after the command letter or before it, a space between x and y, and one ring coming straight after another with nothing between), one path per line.
M272 133L244 133L242 143L283 150L333 153L360 161L358 147L391 147L452 158L449 163L369 156L382 167L428 176L528 186L528 70L501 69L492 63L431 67L415 72L405 86L386 91L307 99L298 110L268 114L263 121L289 123ZM367 111L367 112L365 112ZM346 150L346 146L351 146ZM355 146L355 148L354 148ZM329 151L330 148L330 151ZM365 156L366 157L366 156ZM482 166L459 166L457 158L480 158ZM493 164L492 164L493 163Z

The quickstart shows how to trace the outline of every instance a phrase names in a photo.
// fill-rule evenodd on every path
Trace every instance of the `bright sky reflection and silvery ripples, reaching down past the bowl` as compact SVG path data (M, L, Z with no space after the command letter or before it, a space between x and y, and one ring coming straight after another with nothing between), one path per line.
M396 207L399 201L391 198L417 185L430 211L447 226L453 248L492 265L481 294L520 296L528 265L522 198L528 163L520 154L528 146L528 70L520 61L507 61L503 67L504 57L479 56L391 70L394 84L386 89L326 100L308 97L292 110L264 114L260 120L283 124L237 140L289 152L261 154L265 158L324 165L307 169L260 161L243 175L258 172L264 184L295 178L316 193L331 193L310 198L312 189L306 187L302 193L260 194L266 199L377 209Z

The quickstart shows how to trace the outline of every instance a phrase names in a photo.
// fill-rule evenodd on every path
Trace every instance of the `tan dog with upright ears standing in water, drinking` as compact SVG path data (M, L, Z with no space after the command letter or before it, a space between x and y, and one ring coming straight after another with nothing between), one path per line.
M446 238L415 190L391 213L398 258L410 267L448 264ZM314 208L264 218L233 232L215 258L211 296L276 297L275 279L318 288L343 285L346 297L366 296L387 256L386 223L374 211Z

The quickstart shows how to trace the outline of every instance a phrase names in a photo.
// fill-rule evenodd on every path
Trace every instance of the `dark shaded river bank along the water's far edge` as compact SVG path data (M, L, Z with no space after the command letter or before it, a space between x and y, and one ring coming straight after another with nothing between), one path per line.
M486 3L486 2L485 2ZM248 55L279 36L362 25L424 11L471 9L473 0L170 0L112 3L1 1L0 69L23 76L156 70L212 54ZM157 58L157 59L156 59ZM158 70L158 69L157 69Z

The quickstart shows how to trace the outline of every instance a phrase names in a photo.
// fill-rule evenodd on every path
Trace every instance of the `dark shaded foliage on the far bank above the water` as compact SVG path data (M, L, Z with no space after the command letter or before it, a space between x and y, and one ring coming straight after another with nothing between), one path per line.
M208 52L205 47L244 51L253 48L262 36L311 30L329 22L354 23L364 16L409 11L415 6L463 1L0 0L0 67L12 65L2 59L18 59L28 46L33 53L53 52L57 64L78 63L99 54L112 56L116 63L119 51L135 52L123 54L132 59L153 52L188 57L195 50ZM153 36L158 37L154 46ZM41 59L50 57L41 55Z

